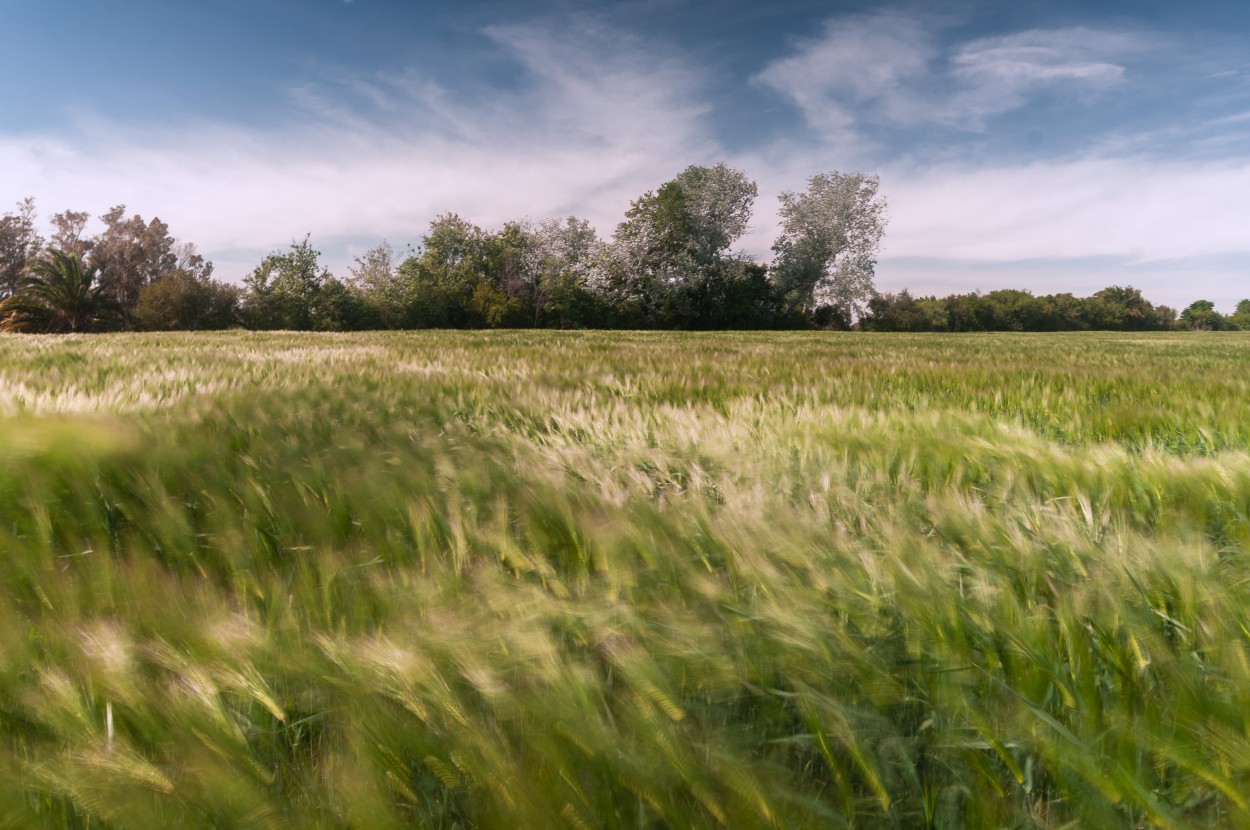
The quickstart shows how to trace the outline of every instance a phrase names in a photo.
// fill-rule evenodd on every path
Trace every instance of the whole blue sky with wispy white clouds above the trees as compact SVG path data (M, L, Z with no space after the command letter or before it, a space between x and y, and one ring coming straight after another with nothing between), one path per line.
M881 178L882 291L1250 296L1245 0L0 0L0 211L124 204L238 281L459 212L610 236L692 164Z

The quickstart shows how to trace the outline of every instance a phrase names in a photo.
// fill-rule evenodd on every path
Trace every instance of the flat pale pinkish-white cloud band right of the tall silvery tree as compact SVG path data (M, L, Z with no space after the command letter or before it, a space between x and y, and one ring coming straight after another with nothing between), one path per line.
M1166 260L1250 248L1250 161L1091 159L888 174L890 252Z

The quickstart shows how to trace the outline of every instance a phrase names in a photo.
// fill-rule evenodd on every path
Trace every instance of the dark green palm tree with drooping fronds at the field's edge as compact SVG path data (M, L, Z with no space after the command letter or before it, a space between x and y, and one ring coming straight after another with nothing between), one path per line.
M12 296L0 302L0 331L94 331L122 319L99 281L100 269L54 248L34 260Z

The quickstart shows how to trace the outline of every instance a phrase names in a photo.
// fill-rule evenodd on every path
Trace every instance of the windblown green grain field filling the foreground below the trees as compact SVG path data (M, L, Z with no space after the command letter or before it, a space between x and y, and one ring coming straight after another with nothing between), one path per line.
M0 826L1250 828L1250 335L0 339Z

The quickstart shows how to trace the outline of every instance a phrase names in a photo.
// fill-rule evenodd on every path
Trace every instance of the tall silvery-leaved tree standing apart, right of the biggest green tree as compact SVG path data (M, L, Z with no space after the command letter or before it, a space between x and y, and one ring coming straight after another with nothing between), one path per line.
M808 180L806 191L781 194L772 280L786 312L818 302L858 312L872 296L872 272L886 225L879 189L878 176L821 172Z

